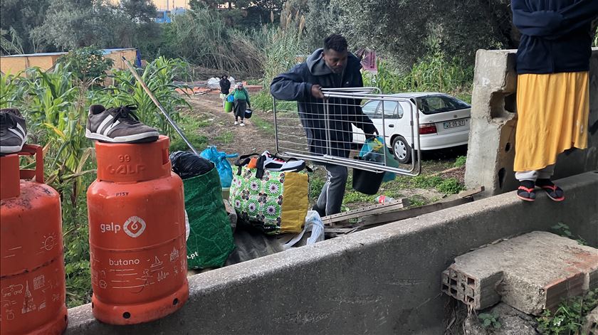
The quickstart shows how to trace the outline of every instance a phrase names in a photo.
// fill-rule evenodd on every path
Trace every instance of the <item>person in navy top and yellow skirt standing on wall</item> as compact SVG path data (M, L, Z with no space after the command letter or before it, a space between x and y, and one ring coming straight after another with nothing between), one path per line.
M517 50L515 178L518 198L534 201L542 188L565 200L550 180L557 156L587 147L589 58L598 0L511 0Z

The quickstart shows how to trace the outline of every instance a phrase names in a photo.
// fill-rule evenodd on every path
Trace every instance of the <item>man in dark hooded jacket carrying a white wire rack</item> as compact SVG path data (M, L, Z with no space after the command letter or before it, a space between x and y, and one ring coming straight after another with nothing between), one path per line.
M322 87L363 87L360 59L347 50L347 40L338 35L328 36L324 48L315 50L305 63L295 65L287 73L273 79L270 92L278 100L298 101L299 117L308 137L309 150L321 156L330 154L347 158L351 151L352 126L374 137L377 129L363 114L360 102L332 103L327 129L323 110ZM328 138L330 131L330 139ZM330 142L332 147L327 147ZM329 152L327 152L329 151ZM340 213L349 173L346 166L324 164L327 181L313 207L320 216Z

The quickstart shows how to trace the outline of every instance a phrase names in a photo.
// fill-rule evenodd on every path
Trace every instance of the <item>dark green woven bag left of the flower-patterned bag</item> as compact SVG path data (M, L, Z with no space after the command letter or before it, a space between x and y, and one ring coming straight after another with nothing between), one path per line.
M189 269L221 267L235 245L218 171L214 168L207 174L184 179L183 186L189 217L187 266Z

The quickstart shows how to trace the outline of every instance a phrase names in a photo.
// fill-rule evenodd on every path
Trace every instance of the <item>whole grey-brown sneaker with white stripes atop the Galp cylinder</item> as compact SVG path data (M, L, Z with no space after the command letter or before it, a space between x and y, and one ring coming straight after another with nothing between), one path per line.
M133 110L135 105L105 109L103 105L91 105L85 137L110 143L154 142L159 132L139 122Z

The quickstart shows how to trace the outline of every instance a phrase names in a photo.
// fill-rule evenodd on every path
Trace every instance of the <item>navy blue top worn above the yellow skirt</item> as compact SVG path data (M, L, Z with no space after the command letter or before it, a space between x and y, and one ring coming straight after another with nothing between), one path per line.
M598 0L511 0L521 41L517 73L589 70Z

